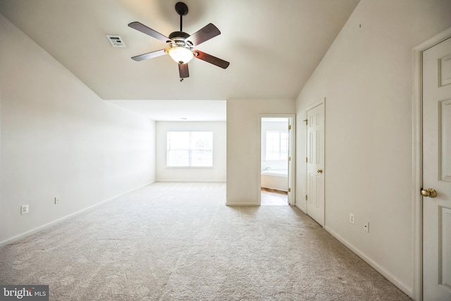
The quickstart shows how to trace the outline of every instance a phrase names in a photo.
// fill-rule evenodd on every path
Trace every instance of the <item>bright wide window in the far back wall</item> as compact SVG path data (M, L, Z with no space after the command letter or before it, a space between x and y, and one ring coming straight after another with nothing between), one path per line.
M168 167L212 167L213 132L168 132Z

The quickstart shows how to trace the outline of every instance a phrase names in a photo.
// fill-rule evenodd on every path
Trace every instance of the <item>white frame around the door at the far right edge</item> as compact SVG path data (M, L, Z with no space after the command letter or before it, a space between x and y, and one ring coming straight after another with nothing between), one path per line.
M414 47L412 105L412 297L423 300L423 52L451 37L451 27Z

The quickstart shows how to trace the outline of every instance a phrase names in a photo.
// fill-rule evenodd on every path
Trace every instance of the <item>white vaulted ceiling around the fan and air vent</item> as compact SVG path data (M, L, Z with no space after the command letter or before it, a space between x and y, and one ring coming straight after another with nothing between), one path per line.
M127 26L139 21L168 36L180 30L176 2L0 0L0 12L102 99L155 120L199 118L223 107L221 119L225 105L206 102L295 99L359 0L185 0L183 31L214 23L221 35L197 48L230 66L193 59L183 82L169 56L130 59L166 44ZM121 35L126 48L113 48L106 35Z

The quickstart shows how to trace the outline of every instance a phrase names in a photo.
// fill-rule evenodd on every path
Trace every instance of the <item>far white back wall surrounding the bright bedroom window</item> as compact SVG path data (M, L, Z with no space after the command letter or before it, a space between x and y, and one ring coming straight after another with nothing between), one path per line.
M213 132L213 168L166 168L166 133L176 130ZM156 122L156 180L158 181L226 181L226 122Z

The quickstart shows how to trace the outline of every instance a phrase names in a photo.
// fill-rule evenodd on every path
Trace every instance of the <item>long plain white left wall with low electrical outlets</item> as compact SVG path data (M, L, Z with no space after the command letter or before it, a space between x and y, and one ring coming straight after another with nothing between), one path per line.
M1 14L0 37L0 244L154 181L153 121L102 101Z

